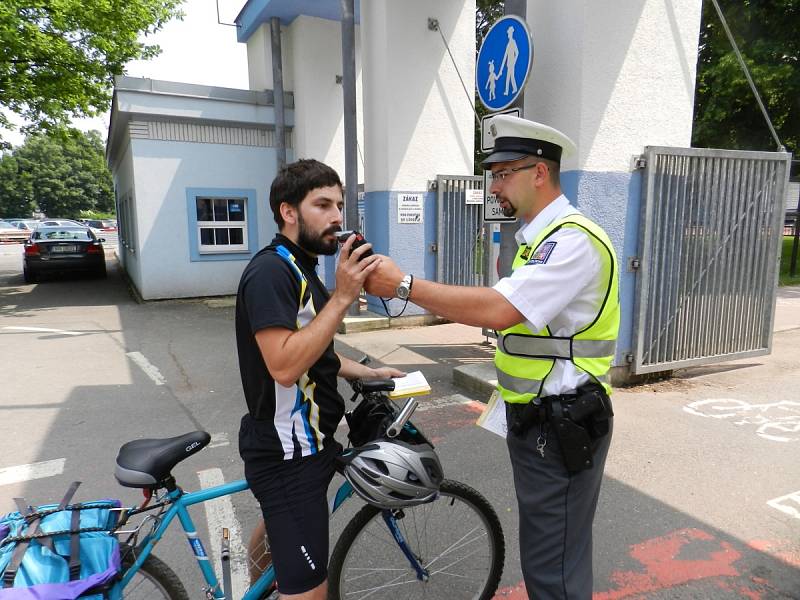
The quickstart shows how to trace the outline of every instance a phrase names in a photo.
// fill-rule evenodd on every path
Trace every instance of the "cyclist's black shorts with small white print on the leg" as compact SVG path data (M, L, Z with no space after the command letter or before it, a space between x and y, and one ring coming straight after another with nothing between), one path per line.
M239 452L245 478L261 505L278 591L301 594L328 578L327 492L341 446L329 443L299 460L254 460L259 454L253 447L256 427L257 421L242 419Z

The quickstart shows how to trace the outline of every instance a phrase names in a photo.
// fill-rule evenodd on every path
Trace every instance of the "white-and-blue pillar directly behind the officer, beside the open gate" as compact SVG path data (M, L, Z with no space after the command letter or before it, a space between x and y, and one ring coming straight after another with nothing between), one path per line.
M578 146L562 188L608 232L620 261L615 364L632 351L634 274L645 146L691 145L702 0L528 1L534 44L525 116Z

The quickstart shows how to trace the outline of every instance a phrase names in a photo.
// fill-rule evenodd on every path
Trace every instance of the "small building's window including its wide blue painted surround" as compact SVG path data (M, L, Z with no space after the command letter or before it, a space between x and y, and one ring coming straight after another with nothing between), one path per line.
M256 190L186 188L189 260L249 260L258 250Z

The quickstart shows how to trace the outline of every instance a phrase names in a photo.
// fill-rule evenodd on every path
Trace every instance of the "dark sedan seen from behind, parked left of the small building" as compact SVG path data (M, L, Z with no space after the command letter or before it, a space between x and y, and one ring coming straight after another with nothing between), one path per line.
M102 238L88 227L42 225L25 243L23 276L33 283L44 272L88 271L106 276L106 256Z

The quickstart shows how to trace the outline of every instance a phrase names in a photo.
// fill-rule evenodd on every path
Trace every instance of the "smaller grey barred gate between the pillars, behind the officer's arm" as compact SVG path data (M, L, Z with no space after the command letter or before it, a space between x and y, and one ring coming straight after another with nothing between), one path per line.
M483 190L483 177L436 176L439 283L483 285L483 201L468 204L469 190Z

